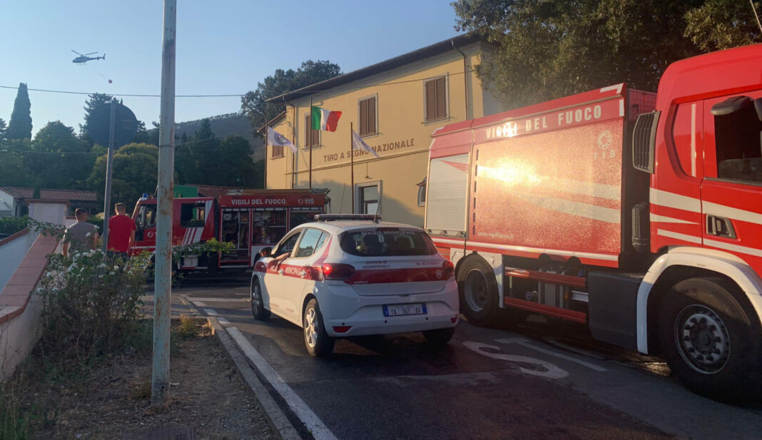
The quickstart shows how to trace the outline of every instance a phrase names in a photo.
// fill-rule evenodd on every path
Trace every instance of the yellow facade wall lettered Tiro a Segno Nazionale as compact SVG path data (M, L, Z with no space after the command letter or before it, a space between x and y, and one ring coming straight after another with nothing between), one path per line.
M292 139L299 152L295 157L284 148L283 158L267 155L267 188L309 187L310 150L306 148L305 116L309 114L312 97L312 105L342 112L336 132L320 132L320 146L312 148L312 187L331 190L328 195L331 212L351 212L350 123L359 132L359 101L375 96L378 133L363 140L371 148L379 148L379 158L355 151L355 187L377 183L384 220L422 226L424 206L418 206L418 183L427 174L431 133L441 126L499 110L472 70L481 62L486 46L472 43L461 48L466 53L465 73L463 56L453 49L293 100L295 108L287 107L285 118L274 128ZM447 78L447 118L426 123L424 81L440 76ZM357 191L354 198L358 212Z

